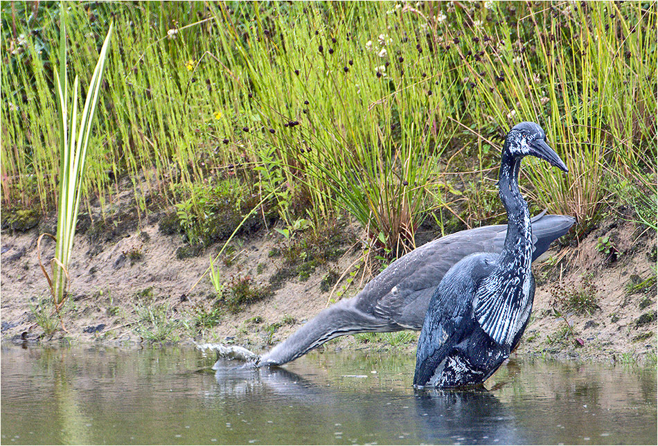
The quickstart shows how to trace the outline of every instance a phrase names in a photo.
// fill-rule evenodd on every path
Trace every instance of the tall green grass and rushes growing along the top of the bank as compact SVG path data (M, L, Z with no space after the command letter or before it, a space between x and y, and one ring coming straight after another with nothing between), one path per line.
M535 208L585 231L623 202L655 226L656 3L485 5L71 3L81 78L116 24L83 196L104 203L127 177L139 212L201 222L233 181L284 227L348 213L391 259L428 217L447 231L503 218L499 150L530 120L569 167L527 163ZM1 6L3 209L55 204L58 14Z

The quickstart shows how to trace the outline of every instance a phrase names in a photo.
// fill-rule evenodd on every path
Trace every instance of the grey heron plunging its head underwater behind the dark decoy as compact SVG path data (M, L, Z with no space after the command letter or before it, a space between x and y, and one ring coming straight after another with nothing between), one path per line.
M533 260L569 231L575 220L566 215L533 217ZM387 332L423 326L429 298L446 272L469 254L499 253L507 225L460 231L418 247L391 263L355 297L339 301L305 323L260 364L285 364L343 334Z

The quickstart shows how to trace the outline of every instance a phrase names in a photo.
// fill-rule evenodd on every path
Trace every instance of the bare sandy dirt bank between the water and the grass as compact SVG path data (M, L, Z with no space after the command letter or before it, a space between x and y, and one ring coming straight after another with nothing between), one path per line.
M130 193L126 191L126 195ZM43 325L44 318L52 322L53 317L35 307L48 296L36 244L39 233L52 230L54 217L26 232L3 230L2 340L118 344L148 339L220 341L260 351L285 339L326 307L330 292L323 281L328 271L341 273L361 255L359 244L344 241L340 256L307 274L296 271L284 276L262 300L245 303L236 313L213 312L216 294L210 280L203 278L190 289L206 271L209 256L222 244L212 245L197 256L179 258L183 257L179 249L186 244L178 234L159 231L163 215L150 213L139 220L125 216L109 226L106 223L101 233L87 231L76 236L71 298L63 311L67 332L57 330L52 336L44 335ZM357 229L348 226L343 231L355 235ZM348 239L354 237L344 238ZM272 276L283 268L284 260L273 256L282 240L272 229L239 240L235 252L218 263L222 278L231 283L247 281L251 289L267 289ZM573 240L559 252L549 251L534 265L537 292L533 319L518 353L655 361L655 265L655 232L618 217L603 220L580 242ZM346 296L360 289L359 277L355 276ZM344 278L337 289L345 284ZM415 339L391 342L390 335L350 336L325 348L400 348L412 354Z

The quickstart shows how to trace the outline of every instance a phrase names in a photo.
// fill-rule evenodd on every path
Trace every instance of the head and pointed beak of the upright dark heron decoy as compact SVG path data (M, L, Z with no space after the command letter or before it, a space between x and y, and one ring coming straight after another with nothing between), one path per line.
M532 155L548 161L556 168L568 172L567 165L558 157L555 150L546 144L546 133L539 124L523 122L512 127L507 134L503 152L507 151L513 157Z

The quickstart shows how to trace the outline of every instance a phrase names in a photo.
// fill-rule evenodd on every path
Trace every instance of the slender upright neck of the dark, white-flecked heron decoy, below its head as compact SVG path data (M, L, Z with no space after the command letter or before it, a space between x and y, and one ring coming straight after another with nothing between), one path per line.
M528 205L519 190L519 168L521 158L513 157L506 150L501 160L498 189L500 199L507 211L507 237L503 248L504 256L532 256L532 229ZM529 260L528 260L529 261Z

